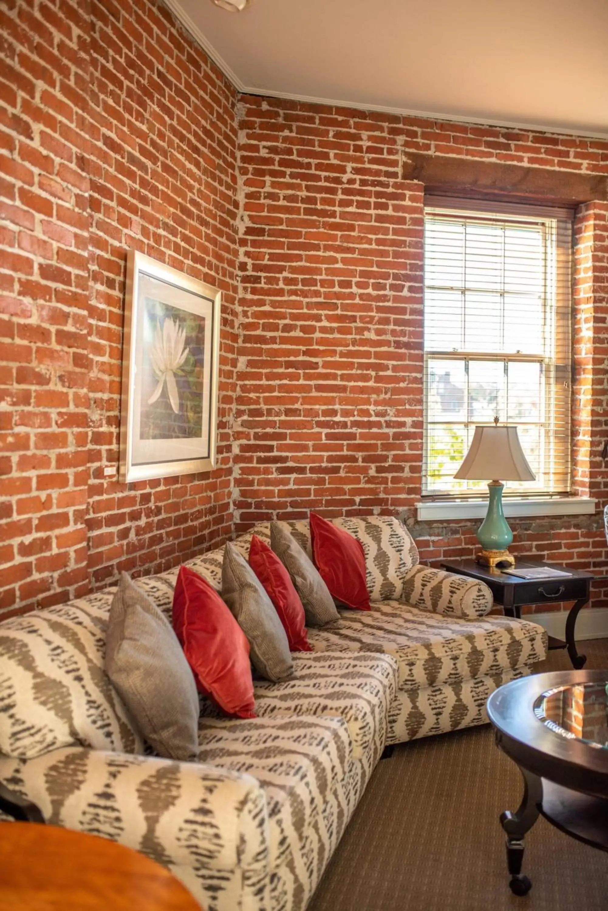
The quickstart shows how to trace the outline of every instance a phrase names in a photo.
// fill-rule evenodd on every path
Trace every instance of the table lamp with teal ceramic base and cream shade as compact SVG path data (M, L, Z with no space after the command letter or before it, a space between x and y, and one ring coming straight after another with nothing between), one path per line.
M469 481L487 481L488 478L499 477L505 481L535 479L521 450L517 427L500 427L498 417L494 418L494 426L475 428L469 452L454 477ZM486 567L515 565L515 558L509 553L513 532L502 511L503 486L499 480L489 481L488 512L477 532L481 550L475 559Z

